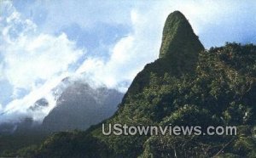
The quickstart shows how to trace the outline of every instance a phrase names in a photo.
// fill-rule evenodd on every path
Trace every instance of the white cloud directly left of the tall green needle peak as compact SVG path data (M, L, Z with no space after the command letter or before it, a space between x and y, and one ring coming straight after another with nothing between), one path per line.
M127 84L125 87L119 87L120 83L131 83L144 65L158 57L161 29L148 19L148 16L153 14L154 12L148 12L145 16L136 9L131 10L132 31L109 49L110 59L107 62L101 59L87 59L77 73L90 73L95 81L102 82L108 87L118 87L125 92Z

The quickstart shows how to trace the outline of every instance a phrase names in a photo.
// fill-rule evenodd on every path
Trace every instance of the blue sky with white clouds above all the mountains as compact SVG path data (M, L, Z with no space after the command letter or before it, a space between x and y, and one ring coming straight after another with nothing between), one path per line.
M0 0L0 123L55 107L63 78L125 92L180 10L205 48L256 42L255 1ZM32 111L38 99L49 106Z

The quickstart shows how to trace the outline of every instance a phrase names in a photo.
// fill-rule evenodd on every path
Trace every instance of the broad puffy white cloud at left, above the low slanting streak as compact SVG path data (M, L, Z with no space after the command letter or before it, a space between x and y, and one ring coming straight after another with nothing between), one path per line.
M37 80L48 80L67 71L83 54L65 34L59 37L40 34L21 36L9 43L3 54L4 74L14 87L32 89Z

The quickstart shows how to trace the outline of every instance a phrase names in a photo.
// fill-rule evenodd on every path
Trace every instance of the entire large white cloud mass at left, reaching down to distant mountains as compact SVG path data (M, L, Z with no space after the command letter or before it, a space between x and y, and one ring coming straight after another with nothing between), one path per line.
M53 36L38 32L37 25L24 19L12 3L6 1L2 4L6 10L0 25L0 82L9 85L2 89L2 95L9 98L9 103L3 104L0 100L1 110L5 112L0 120L14 120L26 115L40 120L55 106L52 88L73 73L73 65L85 50L76 48L75 42L70 41L65 33ZM11 95L8 93L10 89ZM48 99L49 107L28 113L28 108L41 98Z

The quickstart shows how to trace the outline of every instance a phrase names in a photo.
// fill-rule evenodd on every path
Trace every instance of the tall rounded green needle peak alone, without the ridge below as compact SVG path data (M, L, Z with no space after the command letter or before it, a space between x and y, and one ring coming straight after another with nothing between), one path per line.
M170 62L177 64L177 69L188 68L195 65L197 55L203 49L189 20L179 11L169 14L163 30L160 59L170 59Z

